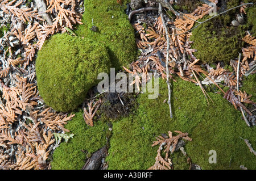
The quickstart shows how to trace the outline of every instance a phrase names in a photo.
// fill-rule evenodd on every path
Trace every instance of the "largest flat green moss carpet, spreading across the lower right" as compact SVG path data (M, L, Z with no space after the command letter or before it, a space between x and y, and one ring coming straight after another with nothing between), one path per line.
M256 145L255 128L249 128L241 114L222 95L209 92L214 103L208 106L199 86L178 79L172 83L172 111L170 119L167 85L159 82L157 99L148 99L147 94L138 97L138 108L133 115L113 123L110 139L109 169L148 169L154 165L157 146L151 147L161 133L179 130L188 132L192 141L186 141L185 151L193 163L203 169L239 169L245 165L256 169L254 155L250 153L246 138ZM217 151L217 163L210 164L209 150ZM183 156L171 155L174 169L188 169ZM232 162L229 161L232 157Z

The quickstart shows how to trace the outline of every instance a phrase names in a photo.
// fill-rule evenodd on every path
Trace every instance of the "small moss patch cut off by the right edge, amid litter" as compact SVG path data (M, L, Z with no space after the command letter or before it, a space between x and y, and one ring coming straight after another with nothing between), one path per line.
M256 102L256 74L250 74L248 77L245 77L242 82L242 91L246 91L248 95L253 95L251 96L251 100Z

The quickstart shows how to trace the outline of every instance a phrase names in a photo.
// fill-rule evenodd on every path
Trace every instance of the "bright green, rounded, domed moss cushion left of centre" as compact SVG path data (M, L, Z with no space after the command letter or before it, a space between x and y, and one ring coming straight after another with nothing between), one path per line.
M40 96L56 111L75 110L98 83L98 73L109 73L110 64L104 45L66 33L53 35L36 59Z

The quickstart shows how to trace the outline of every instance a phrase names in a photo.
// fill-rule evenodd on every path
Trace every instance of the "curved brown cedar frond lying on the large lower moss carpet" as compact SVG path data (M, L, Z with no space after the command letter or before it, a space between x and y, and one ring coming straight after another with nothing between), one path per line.
M180 131L175 131L176 133L179 133L177 136L172 136L172 132L168 132L169 138L164 138L162 136L156 137L157 141L154 141L151 146L159 145L158 154L156 155L156 162L153 166L151 166L150 170L162 170L162 169L171 169L170 163L167 162L169 151L171 153L174 153L174 150L176 149L177 143L180 140L180 138L183 138L184 140L192 141L190 137L188 137L188 133L183 133ZM165 159L161 156L161 150L164 146L164 153L166 153ZM172 146L172 150L170 150Z

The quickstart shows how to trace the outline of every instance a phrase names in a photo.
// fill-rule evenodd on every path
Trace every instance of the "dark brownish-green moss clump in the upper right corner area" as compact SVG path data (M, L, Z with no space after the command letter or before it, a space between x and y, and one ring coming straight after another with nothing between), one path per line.
M220 9L223 9L222 11L231 9L240 5L240 2L240 0L224 1L222 4L225 4L225 6L220 7ZM231 59L237 58L245 44L242 41L242 37L246 35L245 32L248 30L251 32L251 35L256 35L255 10L256 5L248 7L246 9L247 13L243 15L245 23L237 27L233 26L231 22L236 20L236 14L239 14L239 9L216 16L195 28L190 37L190 40L193 41L192 48L197 49L197 52L194 53L195 56L203 63L223 61L229 64ZM199 22L209 18L211 18L209 15L205 16Z

